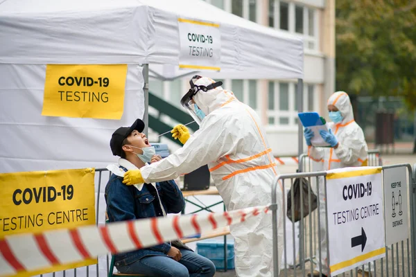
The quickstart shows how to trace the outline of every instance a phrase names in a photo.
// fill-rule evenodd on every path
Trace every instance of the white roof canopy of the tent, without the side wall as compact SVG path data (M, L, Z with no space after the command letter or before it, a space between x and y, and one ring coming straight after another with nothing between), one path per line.
M6 42L0 63L177 66L178 17L220 24L216 76L303 76L301 39L200 0L6 0L0 4L0 41Z

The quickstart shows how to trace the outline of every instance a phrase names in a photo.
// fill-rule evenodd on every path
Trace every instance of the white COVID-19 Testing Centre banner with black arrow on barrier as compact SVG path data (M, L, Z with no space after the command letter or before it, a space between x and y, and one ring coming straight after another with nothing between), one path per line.
M385 256L381 168L327 173L331 275Z

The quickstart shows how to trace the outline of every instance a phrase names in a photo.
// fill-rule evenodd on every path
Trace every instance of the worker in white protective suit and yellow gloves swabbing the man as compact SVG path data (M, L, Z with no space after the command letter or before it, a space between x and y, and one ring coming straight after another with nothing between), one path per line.
M125 173L125 184L175 179L208 164L216 188L228 211L271 203L275 159L256 112L236 99L222 82L194 76L182 98L200 129L192 136L177 125L173 137L183 147L157 163ZM279 258L283 250L282 190L277 189ZM272 217L263 214L233 224L236 274L272 276ZM280 259L279 259L280 261Z

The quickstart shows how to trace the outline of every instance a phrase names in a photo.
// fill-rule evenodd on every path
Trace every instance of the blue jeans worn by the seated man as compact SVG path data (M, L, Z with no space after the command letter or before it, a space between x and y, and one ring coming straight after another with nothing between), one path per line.
M179 262L167 256L146 256L130 265L119 265L123 274L144 274L159 277L212 277L215 265L211 260L187 249L180 249Z

